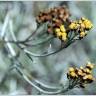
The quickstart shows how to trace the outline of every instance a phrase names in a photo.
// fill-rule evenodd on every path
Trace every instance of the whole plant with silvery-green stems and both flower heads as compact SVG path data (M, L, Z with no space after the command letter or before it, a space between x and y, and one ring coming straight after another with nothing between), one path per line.
M82 17L79 20L71 21L70 16L71 15L70 15L70 12L67 7L55 7L55 8L51 8L50 10L48 10L46 12L40 12L40 14L36 18L36 21L37 21L38 25L46 23L47 24L46 33L51 34L52 36L60 39L62 42L74 40L75 37L77 37L77 39L79 39L79 40L84 38L87 35L88 31L90 31L90 29L93 27L91 21L84 17ZM6 24L6 23L4 22L4 24ZM4 27L5 27L5 25L4 25ZM39 28L37 27L37 29L39 29ZM35 34L36 31L33 33ZM32 61L33 61L33 59L31 58L30 55L35 56L35 57L36 56L42 57L42 56L48 56L48 55L52 55L56 52L59 52L58 50L56 50L49 54L33 55L33 53L28 51L26 48L21 47L21 45L19 45L20 43L28 47L27 42L31 41L31 37L34 36L33 33L25 41L21 41L21 42L17 41L17 40L16 41L6 41L4 39L5 40L4 42L6 42L6 43L9 42L9 45L8 45L9 50L7 50L7 51L10 52L10 54L13 57L10 60L12 60L12 64L14 64L16 66L16 70L23 76L23 78L29 84L31 84L32 86L37 88L37 90L39 90L40 92L46 93L46 94L57 94L57 93L59 94L60 92L63 92L64 90L62 90L61 88L56 88L56 87L53 88L50 86L46 86L46 85L42 84L41 82L35 80L34 77L30 77L31 75L25 74L24 73L25 69L23 69L24 67L22 66L22 63L17 59L16 56L13 55L13 53L15 53L15 50L13 49L13 47L10 44L12 42L17 44L18 47L20 49L22 49L26 53L26 56L28 56L29 59L31 59ZM14 35L14 32L12 34ZM14 38L14 36L13 36L13 38ZM36 45L42 44L42 43L43 42L40 42L40 43L37 43ZM66 48L70 44L71 44L70 42L68 45L65 44L66 46L64 46L63 48ZM35 45L35 44L33 44L33 45ZM47 53L47 52L45 52L45 53ZM18 65L20 65L20 66L18 66ZM15 67L13 66L13 68L15 68ZM92 83L95 80L94 77L92 76L93 68L94 68L94 65L90 62L87 63L85 68L83 68L82 66L80 68L74 68L74 67L69 68L69 72L67 73L67 78L69 79L69 86L67 89L72 89L75 86L84 88L85 84ZM24 70L24 72L23 72L23 70ZM34 82L37 83L38 85L34 84L30 79L33 79ZM47 91L45 88L48 90L54 90L54 92ZM66 89L65 89L65 91L66 91Z

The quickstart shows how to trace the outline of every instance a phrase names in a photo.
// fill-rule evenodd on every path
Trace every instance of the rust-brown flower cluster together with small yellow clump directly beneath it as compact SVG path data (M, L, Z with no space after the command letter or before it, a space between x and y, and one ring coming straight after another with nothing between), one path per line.
M55 7L47 12L41 12L39 16L37 16L37 23L48 22L47 32L62 41L66 41L67 32L64 23L69 22L69 17L70 13L67 7Z

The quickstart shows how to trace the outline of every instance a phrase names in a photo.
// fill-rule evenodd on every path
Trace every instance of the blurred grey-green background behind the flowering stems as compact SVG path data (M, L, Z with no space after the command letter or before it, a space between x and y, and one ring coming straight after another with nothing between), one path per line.
M76 41L61 52L42 58L33 58L33 63L24 55L20 54L20 60L24 67L32 73L37 79L45 84L58 85L67 82L66 73L70 66L84 66L87 61L96 63L96 2L95 1L18 1L18 2L0 2L0 31L3 26L5 16L8 11L12 11L12 20L14 32L18 40L24 40L37 27L35 17L40 11L53 8L55 6L68 6L72 18L87 17L92 21L94 28L82 40ZM8 31L8 30L7 30ZM8 33L8 32L7 32ZM21 38L22 37L22 38ZM56 42L52 43L56 47ZM37 50L45 50L46 46L36 46ZM58 46L58 45L57 45ZM53 50L53 49L49 49ZM10 61L6 52L0 44L0 82L4 77ZM96 70L93 75L96 78ZM38 91L29 85L23 78L12 70L6 80L0 85L0 94L25 95L38 94ZM69 95L96 95L96 82L88 85L86 88L74 88L64 94Z

